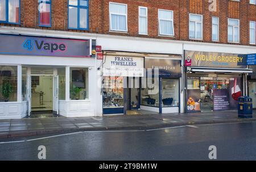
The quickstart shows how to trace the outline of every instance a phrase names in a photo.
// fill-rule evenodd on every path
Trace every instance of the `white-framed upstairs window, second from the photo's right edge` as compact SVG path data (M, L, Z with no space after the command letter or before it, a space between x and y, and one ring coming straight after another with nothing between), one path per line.
M228 19L228 42L239 43L240 41L240 26L238 19Z

